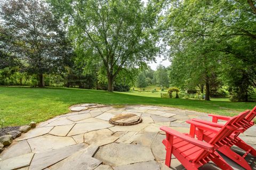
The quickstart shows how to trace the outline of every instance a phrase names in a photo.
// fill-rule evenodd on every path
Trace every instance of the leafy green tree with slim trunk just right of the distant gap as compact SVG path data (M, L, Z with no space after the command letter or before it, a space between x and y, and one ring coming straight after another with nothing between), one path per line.
M218 66L218 52L209 50L215 45L212 31L215 18L204 12L210 5L206 1L173 2L166 20L171 82L190 89L204 84L205 100L210 100L211 76Z

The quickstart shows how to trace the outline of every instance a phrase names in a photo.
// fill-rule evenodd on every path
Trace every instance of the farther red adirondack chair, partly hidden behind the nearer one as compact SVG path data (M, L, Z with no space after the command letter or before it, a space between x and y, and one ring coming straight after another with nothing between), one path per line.
M220 115L209 115L212 116L212 122L206 121L206 120L199 120L199 119L191 119L188 120L187 123L190 123L190 135L194 136L196 135L199 137L199 140L204 141L210 141L211 138L214 136L217 132L199 132L195 129L195 122L203 123L205 125L210 125L212 127L221 128L223 125L218 124L218 120L229 120L230 117L227 116L220 116ZM247 161L244 159L249 153L253 156L256 156L256 150L252 148L249 144L245 143L240 137L238 137L239 134L246 131L246 129L250 128L254 125L254 122L252 121L254 117L256 116L256 106L252 109L252 111L245 117L243 120L244 126L243 128L239 129L238 131L235 131L232 136L234 137L234 140L230 145L224 145L223 147L219 148L218 150L226 155L228 158L235 161L237 164L243 166L245 169L251 170L250 165L247 163ZM192 128L192 129L191 129ZM237 147L243 149L245 151L244 155L241 157L236 152L232 151L230 148L233 145L237 145Z

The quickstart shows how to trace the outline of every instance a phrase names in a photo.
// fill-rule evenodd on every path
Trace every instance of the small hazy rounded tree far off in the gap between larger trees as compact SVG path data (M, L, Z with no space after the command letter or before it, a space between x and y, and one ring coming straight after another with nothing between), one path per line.
M162 64L159 64L157 66L157 69L154 73L154 77L156 79L156 83L159 86L169 87L169 77L167 74L167 70Z

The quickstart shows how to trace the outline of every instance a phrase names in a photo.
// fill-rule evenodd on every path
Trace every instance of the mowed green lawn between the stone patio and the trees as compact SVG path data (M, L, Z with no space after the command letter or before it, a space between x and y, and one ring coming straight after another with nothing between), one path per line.
M252 109L255 102L203 101L164 99L147 96L109 93L75 88L23 88L0 87L0 117L4 126L26 125L31 121L43 122L54 116L69 112L69 107L78 103L144 104L167 106L206 113L233 116Z

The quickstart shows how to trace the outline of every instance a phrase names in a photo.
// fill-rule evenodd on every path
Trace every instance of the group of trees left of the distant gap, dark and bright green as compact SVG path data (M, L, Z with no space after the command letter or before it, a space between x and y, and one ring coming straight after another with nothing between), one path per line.
M127 91L159 52L164 1L0 3L0 85Z

